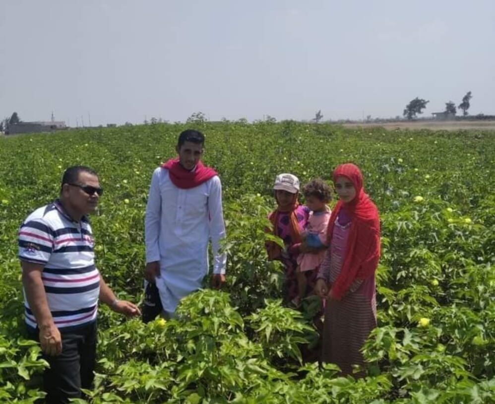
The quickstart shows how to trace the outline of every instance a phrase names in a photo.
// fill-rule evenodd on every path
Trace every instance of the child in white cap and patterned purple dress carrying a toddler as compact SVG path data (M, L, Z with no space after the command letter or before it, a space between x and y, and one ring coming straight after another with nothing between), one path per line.
M296 279L297 257L300 253L302 231L306 227L309 209L298 202L299 179L289 173L277 175L273 185L277 209L268 215L273 224L273 234L284 241L281 248L273 241L266 243L268 259L279 260L284 265L284 301L290 302L298 295ZM316 282L316 279L314 280Z

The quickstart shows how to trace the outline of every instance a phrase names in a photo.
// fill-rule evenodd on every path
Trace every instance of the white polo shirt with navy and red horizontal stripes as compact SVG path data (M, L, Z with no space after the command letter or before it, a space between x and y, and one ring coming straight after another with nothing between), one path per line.
M74 222L56 200L27 217L18 242L21 261L44 267L41 279L55 325L62 329L95 321L100 273L88 219ZM36 328L25 290L24 306L27 325Z

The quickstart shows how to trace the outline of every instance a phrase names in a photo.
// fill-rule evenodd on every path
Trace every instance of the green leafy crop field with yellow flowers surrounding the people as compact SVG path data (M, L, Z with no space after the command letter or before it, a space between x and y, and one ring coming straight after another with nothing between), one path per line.
M199 117L190 124L206 134L205 163L222 179L227 284L188 296L177 319L147 325L100 307L87 403L494 403L493 133ZM175 155L184 128L157 122L0 139L2 403L42 398L47 366L22 338L20 223L58 195L64 168L93 167L105 187L92 217L98 268L120 297L140 301L151 173ZM363 347L367 376L357 380L304 363L319 301L305 301L302 313L283 307L283 271L264 249L280 242L265 231L276 174L330 181L348 161L362 168L382 225L379 327Z

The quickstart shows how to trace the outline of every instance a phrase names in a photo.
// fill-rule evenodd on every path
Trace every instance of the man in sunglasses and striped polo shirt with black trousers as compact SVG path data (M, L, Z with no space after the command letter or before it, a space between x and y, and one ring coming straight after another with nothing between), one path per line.
M25 321L50 364L46 403L68 403L81 397L81 388L91 388L98 300L117 313L140 314L133 303L116 298L95 267L87 215L102 194L93 170L70 167L60 198L31 213L19 229Z

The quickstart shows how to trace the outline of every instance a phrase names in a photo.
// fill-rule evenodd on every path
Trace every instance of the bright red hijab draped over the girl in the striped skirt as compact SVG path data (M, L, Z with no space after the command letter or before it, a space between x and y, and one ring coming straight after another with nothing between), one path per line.
M338 166L333 172L333 181L338 177L349 178L356 189L356 197L344 203L337 202L328 223L327 244L330 245L333 226L341 209L351 218L347 251L342 263L340 275L332 285L337 299L341 299L356 279L372 276L380 258L380 219L378 209L363 190L363 174L351 163Z

